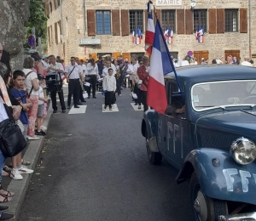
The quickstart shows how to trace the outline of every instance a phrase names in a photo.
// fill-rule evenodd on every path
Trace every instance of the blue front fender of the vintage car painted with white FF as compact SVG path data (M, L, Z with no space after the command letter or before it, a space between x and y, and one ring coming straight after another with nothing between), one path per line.
M177 183L197 174L201 190L214 199L241 201L256 205L256 163L236 163L224 150L192 150L177 175Z

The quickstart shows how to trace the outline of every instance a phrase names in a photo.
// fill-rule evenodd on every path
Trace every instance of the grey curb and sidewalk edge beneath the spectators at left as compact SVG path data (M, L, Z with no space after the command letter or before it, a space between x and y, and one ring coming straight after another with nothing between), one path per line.
M52 110L51 108L49 108L47 117L44 122L44 125L46 127L48 127L49 125L49 120L51 115L52 115ZM29 165L28 167L31 168L32 170L35 170L35 167L37 166L38 157L40 155L43 144L44 144L44 137L42 137L42 139L32 140L28 145L24 156L22 157L24 159L31 161L31 165ZM15 196L13 197L13 201L4 203L4 206L5 205L9 206L9 210L7 210L6 212L15 215L15 217L12 220L18 221L20 209L25 199L26 191L28 190L28 186L29 186L30 179L32 178L32 174L22 174L22 177L23 177L22 180L12 179L11 182L9 183L9 186L6 188L6 190L15 191Z

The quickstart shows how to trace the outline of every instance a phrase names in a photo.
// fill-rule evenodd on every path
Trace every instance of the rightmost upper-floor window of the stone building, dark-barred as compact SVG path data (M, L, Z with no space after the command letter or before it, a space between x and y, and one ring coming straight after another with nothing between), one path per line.
M237 9L225 10L225 31L226 32L238 31L238 10Z

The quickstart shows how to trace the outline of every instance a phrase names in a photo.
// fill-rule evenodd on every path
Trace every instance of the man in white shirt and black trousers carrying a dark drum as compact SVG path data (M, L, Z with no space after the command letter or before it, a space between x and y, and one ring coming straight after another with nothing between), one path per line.
M58 110L57 100L56 100L56 94L58 93L60 103L61 103L62 113L65 113L66 105L65 105L65 101L64 101L62 80L61 80L61 74L64 74L63 65L61 63L56 62L55 55L49 55L48 58L49 58L50 65L46 69L46 71L47 71L46 79L48 79L50 73L58 74L60 77L60 85L56 86L55 88L52 88L52 90L50 92L50 99L52 101L52 109L54 110L53 111L54 113L56 113Z

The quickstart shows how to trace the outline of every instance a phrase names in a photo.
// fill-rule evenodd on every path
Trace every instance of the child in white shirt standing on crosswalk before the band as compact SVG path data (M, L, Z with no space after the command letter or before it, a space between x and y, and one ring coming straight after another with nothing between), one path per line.
M112 104L116 90L116 80L113 77L113 69L108 69L108 75L103 78L103 91L106 91L105 94L105 106L104 111L106 111L107 106L109 106L109 111L112 111Z

